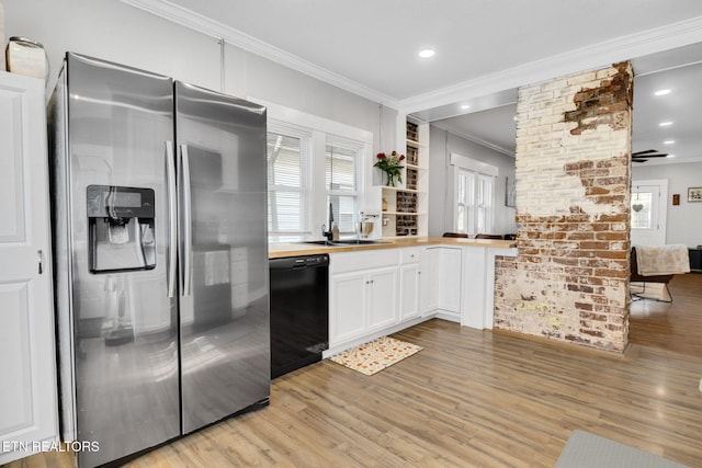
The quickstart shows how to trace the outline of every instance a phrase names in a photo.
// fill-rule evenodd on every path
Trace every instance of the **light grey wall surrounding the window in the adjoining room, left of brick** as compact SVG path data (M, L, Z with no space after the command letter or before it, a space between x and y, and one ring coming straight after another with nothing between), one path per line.
M505 205L507 176L514 178L514 158L458 137L435 126L429 134L429 236L453 230L454 181L450 171L452 152L498 168L495 185L495 222L491 233L517 233L516 209Z

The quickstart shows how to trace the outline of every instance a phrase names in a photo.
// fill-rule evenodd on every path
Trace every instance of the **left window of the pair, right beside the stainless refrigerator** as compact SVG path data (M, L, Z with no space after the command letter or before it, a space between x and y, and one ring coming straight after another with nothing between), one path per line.
M287 135L285 135L287 134ZM309 229L309 136L268 134L268 230L273 241L297 240Z

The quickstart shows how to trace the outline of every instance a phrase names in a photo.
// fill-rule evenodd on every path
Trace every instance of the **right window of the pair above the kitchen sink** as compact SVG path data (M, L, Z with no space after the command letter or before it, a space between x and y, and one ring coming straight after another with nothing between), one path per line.
M355 233L358 198L358 144L328 139L325 151L325 187L327 204L333 207L333 219L340 235Z

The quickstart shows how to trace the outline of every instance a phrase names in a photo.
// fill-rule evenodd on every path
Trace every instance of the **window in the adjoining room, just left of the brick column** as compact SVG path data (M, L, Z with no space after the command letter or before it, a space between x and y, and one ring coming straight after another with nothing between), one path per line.
M451 155L451 163L456 174L454 230L469 236L490 233L497 168L458 155Z

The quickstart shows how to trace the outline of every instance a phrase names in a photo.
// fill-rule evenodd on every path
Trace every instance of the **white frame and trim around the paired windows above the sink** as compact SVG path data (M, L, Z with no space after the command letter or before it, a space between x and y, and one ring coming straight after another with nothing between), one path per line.
M253 96L248 96L247 99L267 107L268 126L271 132L275 132L275 128L287 127L304 130L310 135L309 147L312 148L312 153L308 159L308 190L310 199L308 209L309 224L307 225L309 231L303 233L297 240L321 239L321 226L328 224L327 187L325 187L325 152L328 139L332 141L346 141L347 145L350 142L358 145L356 212L367 210L365 194L371 193L371 164L373 163L371 157L373 151L372 132L307 114ZM269 236L269 241L275 242L276 240L274 237L271 238L271 236Z

